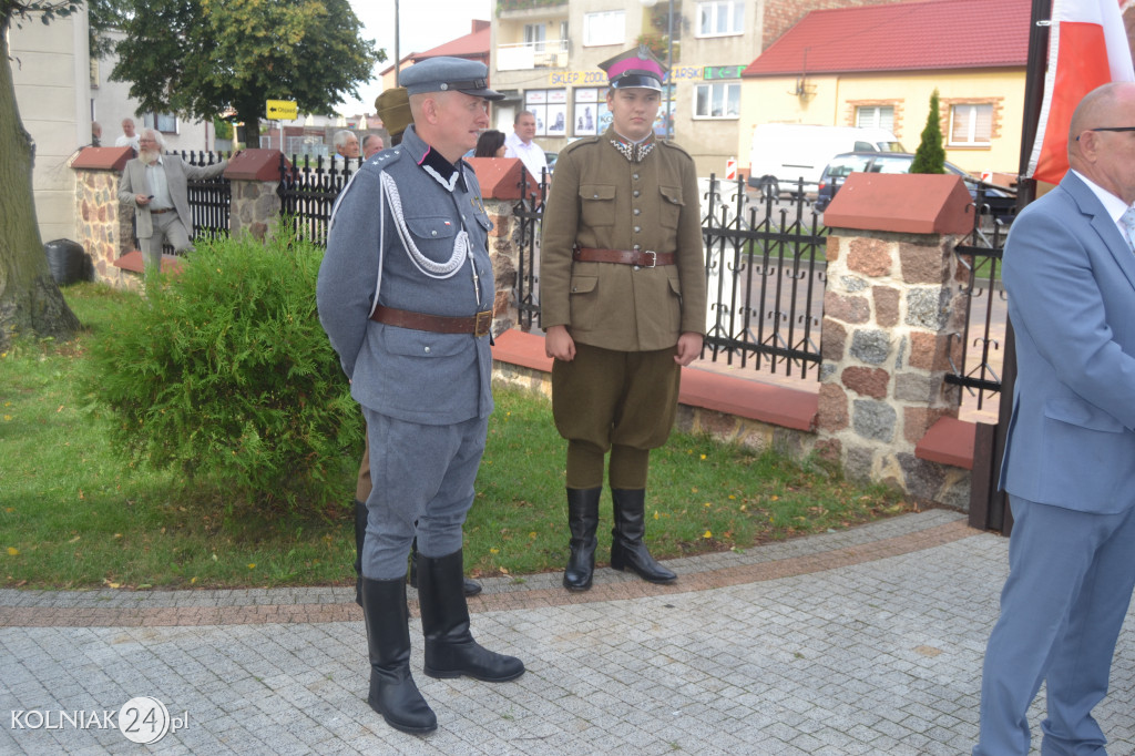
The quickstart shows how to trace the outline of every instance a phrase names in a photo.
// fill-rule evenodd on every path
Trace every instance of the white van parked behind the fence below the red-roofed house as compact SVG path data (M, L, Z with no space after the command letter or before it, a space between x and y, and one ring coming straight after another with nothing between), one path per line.
M819 175L842 152L906 152L894 134L882 128L818 126L813 124L759 124L753 129L749 151L749 186L762 196L776 198L793 191L804 179L814 192Z

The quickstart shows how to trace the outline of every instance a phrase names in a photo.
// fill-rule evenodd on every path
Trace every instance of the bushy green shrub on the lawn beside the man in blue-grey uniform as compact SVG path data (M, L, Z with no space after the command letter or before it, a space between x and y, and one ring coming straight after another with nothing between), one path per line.
M115 442L230 511L345 504L363 423L316 312L321 259L305 241L218 237L151 277L92 350Z

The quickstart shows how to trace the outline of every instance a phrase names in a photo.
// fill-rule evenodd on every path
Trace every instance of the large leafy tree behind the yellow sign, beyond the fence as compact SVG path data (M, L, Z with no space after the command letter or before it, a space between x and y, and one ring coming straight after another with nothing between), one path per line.
M266 100L330 112L358 96L385 50L347 0L129 0L110 78L143 110L212 119L229 109L255 144Z

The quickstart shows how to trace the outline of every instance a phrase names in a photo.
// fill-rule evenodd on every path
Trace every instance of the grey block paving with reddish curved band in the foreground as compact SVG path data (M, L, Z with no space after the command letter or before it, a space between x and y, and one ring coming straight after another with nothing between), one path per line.
M965 754L1007 551L932 510L671 561L672 587L487 580L473 632L528 671L427 678L412 620L428 737L367 706L353 589L0 590L0 754ZM1133 627L1095 712L1112 756L1135 753Z

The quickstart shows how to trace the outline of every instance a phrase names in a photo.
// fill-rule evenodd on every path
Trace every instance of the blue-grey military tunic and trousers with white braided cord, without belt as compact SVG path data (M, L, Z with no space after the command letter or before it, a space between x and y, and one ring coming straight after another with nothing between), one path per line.
M414 535L428 557L461 548L493 411L489 336L369 319L376 289L379 304L413 312L493 309L491 222L472 169L455 168L407 128L343 191L319 270L319 319L367 419L373 489L362 570L372 580L405 574ZM464 259L455 255L462 232Z

